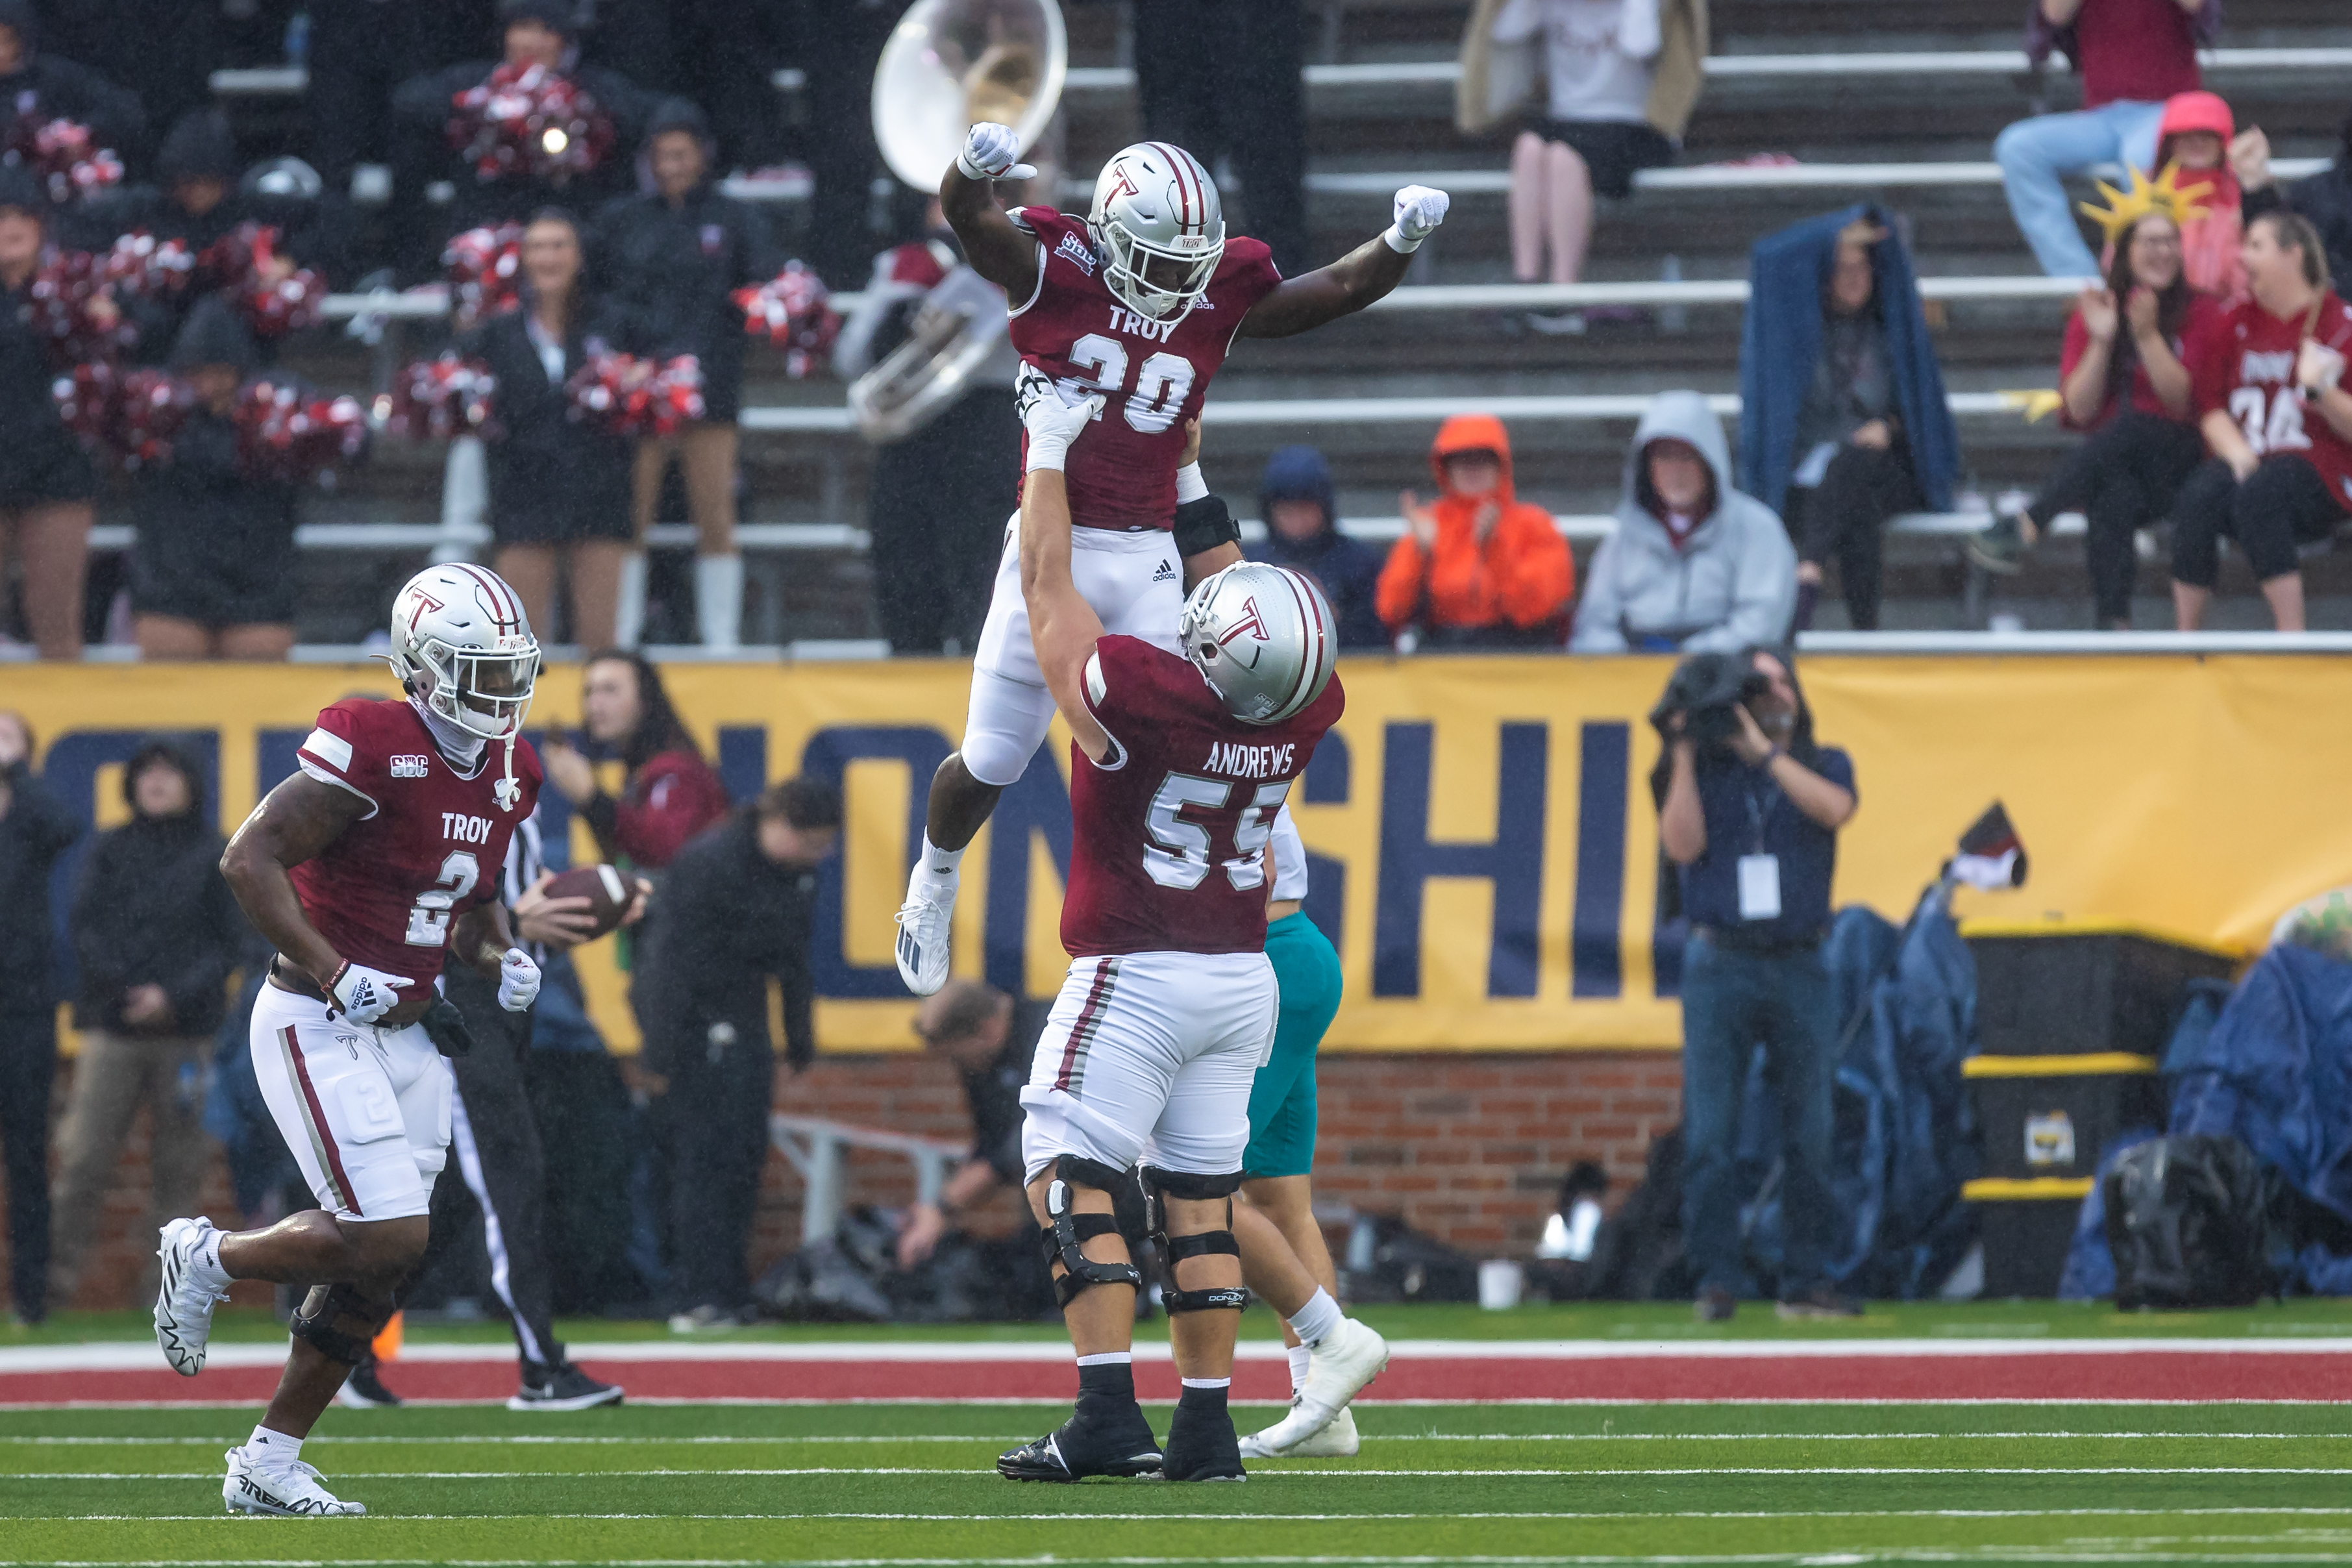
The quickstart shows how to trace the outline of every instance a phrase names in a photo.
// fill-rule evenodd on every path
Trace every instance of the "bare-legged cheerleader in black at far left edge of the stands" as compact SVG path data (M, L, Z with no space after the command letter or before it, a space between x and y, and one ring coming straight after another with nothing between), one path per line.
M5 31L5 28L0 28ZM56 414L49 346L26 310L47 252L49 202L0 167L0 569L16 557L26 630L42 658L80 658L89 501L99 475Z

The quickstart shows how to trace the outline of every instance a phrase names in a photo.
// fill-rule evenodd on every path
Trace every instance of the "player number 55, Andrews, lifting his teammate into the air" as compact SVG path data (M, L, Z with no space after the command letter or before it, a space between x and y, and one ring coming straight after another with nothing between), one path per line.
M1310 578L1258 564L1225 567L1192 590L1181 654L1105 632L1073 581L1063 480L1063 456L1103 395L1065 404L1054 381L1025 369L1021 402L1030 437L1021 597L1037 670L1073 736L1061 912L1073 964L1021 1091L1021 1159L1080 1394L1061 1429L1000 1455L997 1472L1235 1481L1242 1455L1225 1389L1249 1293L1232 1194L1277 1001L1265 959L1268 839L1291 780L1341 715L1338 637ZM1110 1197L1138 1164L1169 1262L1164 1302L1183 1378L1164 1448L1136 1406L1143 1279Z

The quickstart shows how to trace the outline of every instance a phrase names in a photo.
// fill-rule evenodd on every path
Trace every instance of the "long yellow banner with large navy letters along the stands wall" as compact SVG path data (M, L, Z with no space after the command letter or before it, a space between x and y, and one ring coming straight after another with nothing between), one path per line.
M1291 795L1317 858L1310 912L1348 971L1327 1048L1677 1044L1677 947L1651 940L1658 745L1642 719L1668 670L1661 658L1341 665L1348 715ZM1863 797L1842 835L1839 903L1903 919L1994 797L2032 884L1962 893L1962 914L2129 922L2246 950L2286 905L2352 882L2352 736L2333 724L2352 710L2352 661L1818 658L1802 675L1820 738L1853 755ZM844 853L814 952L828 1051L913 1046L891 912L967 677L922 661L666 670L739 799L797 771L842 780ZM101 825L122 816L122 759L172 729L193 731L233 827L292 771L318 708L362 691L388 696L390 679L318 665L0 670L0 708L31 719L49 780ZM548 670L534 729L576 717L576 670ZM1058 985L1065 769L1056 729L964 858L957 973L1028 994ZM550 825L560 844L564 825ZM579 823L569 851L595 853ZM583 950L581 973L607 1039L628 1051L612 950Z

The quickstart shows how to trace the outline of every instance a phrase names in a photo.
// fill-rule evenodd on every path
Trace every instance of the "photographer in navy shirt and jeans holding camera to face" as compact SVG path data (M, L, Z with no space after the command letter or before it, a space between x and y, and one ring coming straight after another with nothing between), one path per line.
M1780 1316L1851 1316L1825 1269L1830 1079L1837 999L1830 929L1837 830L1853 818L1853 759L1816 745L1790 658L1769 649L1698 654L1651 712L1665 738L1658 842L1679 867L1682 912L1682 1244L1698 1274L1698 1321L1731 1316L1745 1279L1733 1140L1748 1063L1764 1046L1780 1095Z

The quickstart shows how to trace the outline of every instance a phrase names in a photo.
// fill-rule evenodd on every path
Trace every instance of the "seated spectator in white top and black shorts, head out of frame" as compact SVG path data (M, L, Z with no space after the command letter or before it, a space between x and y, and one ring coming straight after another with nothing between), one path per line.
M1510 270L1576 282L1592 200L1623 200L1639 169L1675 162L1708 52L1705 0L1479 0L1463 33L1456 125L1482 132L1543 85L1510 150ZM1538 331L1583 331L1576 310Z

